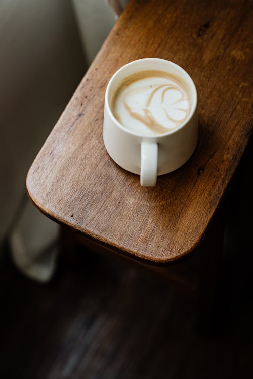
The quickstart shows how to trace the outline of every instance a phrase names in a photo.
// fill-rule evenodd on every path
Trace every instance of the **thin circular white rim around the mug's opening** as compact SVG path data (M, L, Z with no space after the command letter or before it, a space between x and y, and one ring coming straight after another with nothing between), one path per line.
M118 122L118 120L115 118L115 116L113 115L112 111L111 111L111 108L109 106L109 91L110 91L110 87L111 87L111 84L112 84L112 81L114 80L114 78L121 72L125 69L125 67L127 66L132 66L134 65L136 62L139 62L139 61L163 61L163 62L169 62L171 65L177 67L179 70L182 70L184 71L184 73L186 74L188 80L190 81L191 85L192 85L192 88L193 88L193 93L194 93L194 104L193 104L193 107L190 111L190 114L188 115L187 119L181 124L179 125L179 127L177 127L176 129L173 129L173 130L170 130L166 133L162 133L162 134L154 134L154 135L143 135L143 134L138 134L138 133L135 133L129 129L127 129L126 127L124 127L123 125L120 124L120 122ZM188 122L189 120L192 118L192 116L194 115L195 111L196 111L196 108L197 108L197 102L198 102L198 97L197 97L197 89L196 89L196 86L194 84L194 81L193 79L191 78L191 76L188 74L187 71L185 71L181 66L179 66L178 64L172 62L172 61L168 61L167 59L163 59L163 58L141 58L141 59L136 59L134 61L131 61L129 63L126 63L124 66L120 67L111 77L111 79L109 80L108 84L107 84L107 87L106 87L106 91L105 91L105 106L107 108L107 111L110 115L110 117L113 119L113 121L115 122L115 124L120 128L122 129L123 131L125 131L126 133L129 133L130 135L134 135L134 136L137 136L137 137L141 137L141 138L147 138L147 139L154 139L154 138L161 138L161 137L165 137L167 135L172 135L174 133L177 133L179 130L181 130Z

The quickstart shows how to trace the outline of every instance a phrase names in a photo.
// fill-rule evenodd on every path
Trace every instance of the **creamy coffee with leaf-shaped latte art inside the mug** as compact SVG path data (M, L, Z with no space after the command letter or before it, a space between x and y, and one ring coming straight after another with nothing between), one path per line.
M165 71L139 71L115 89L111 110L130 131L152 136L177 129L186 121L191 99L185 82Z

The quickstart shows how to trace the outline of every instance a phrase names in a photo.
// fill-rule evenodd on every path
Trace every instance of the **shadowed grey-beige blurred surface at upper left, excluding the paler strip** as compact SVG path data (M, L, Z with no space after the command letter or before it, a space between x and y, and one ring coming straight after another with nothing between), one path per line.
M86 68L70 0L0 2L0 241Z

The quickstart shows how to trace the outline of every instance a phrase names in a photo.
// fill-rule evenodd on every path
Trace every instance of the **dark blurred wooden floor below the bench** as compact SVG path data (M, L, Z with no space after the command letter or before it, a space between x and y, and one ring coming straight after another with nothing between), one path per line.
M252 377L251 267L230 261L225 333L205 339L192 300L96 254L87 264L87 254L62 256L46 285L1 262L1 378Z

